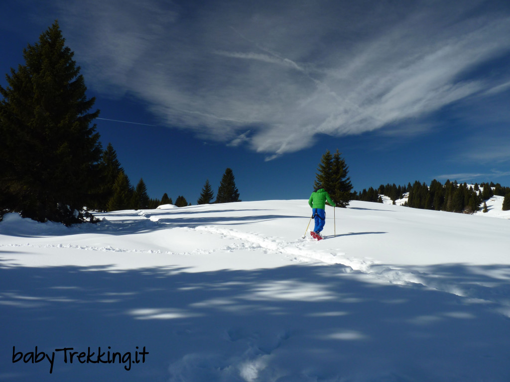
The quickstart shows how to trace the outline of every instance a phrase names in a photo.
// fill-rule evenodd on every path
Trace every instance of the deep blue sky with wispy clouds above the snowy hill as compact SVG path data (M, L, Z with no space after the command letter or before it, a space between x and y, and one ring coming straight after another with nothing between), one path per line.
M2 2L0 72L55 19L152 198L195 204L230 167L242 200L306 199L337 148L359 191L510 185L507 1Z

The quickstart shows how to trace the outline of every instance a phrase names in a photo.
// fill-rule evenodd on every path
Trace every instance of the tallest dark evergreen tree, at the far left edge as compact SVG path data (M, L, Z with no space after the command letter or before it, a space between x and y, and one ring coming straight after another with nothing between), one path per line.
M0 87L0 210L70 225L86 221L101 147L95 99L64 42L56 21Z

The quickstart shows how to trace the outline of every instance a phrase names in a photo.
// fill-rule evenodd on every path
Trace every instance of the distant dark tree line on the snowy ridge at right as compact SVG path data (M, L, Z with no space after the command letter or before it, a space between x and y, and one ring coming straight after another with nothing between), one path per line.
M407 186L395 184L381 184L377 188L363 189L361 193L354 193L354 199L382 203L380 195L390 198L393 203L402 199L408 193L405 206L437 211L473 213L482 210L487 211L486 201L493 196L502 196L503 210L510 210L510 187L504 187L499 183L486 182L468 185L447 180L442 184L438 180L432 180L430 185L415 181Z

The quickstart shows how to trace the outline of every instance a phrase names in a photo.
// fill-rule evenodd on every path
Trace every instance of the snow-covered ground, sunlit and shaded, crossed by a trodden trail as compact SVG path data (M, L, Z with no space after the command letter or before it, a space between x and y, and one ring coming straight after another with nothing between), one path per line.
M501 203L466 215L353 201L327 207L321 241L301 238L307 200L70 228L7 214L0 380L506 382Z

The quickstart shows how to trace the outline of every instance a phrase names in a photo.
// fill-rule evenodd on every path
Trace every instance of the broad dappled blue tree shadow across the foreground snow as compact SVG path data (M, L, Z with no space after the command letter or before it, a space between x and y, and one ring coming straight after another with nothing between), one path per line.
M425 270L425 269L422 269ZM436 266L500 291L507 266ZM498 279L499 277L499 279ZM495 288L497 286L498 288ZM505 293L508 292L504 289ZM508 295L508 294L506 294ZM451 293L343 265L192 272L0 267L0 379L463 380L508 376L508 320ZM125 364L11 362L16 351L149 352Z

